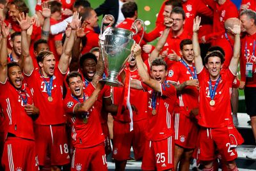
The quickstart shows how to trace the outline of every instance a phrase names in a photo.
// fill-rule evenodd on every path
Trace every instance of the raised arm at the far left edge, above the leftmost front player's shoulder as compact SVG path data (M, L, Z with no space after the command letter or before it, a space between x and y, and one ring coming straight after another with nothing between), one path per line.
M1 35L0 35L0 82L6 82L7 78L7 36L10 33L10 27L4 26L3 20L1 22Z

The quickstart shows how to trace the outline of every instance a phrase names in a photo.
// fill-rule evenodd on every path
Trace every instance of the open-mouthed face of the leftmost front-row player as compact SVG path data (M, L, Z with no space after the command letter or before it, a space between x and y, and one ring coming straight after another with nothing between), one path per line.
M20 89L22 86L23 75L19 66L8 68L8 79L16 89Z

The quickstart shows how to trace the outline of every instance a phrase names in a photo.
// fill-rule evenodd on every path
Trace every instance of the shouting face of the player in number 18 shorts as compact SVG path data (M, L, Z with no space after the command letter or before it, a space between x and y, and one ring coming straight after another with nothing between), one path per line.
M44 57L43 61L39 62L38 64L44 77L51 77L54 74L56 64L54 55L51 54L47 57Z

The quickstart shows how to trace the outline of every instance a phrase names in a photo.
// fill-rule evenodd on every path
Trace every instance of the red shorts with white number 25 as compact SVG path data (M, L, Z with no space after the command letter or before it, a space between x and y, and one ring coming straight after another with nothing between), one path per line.
M146 140L142 170L168 170L173 168L173 137L159 141Z

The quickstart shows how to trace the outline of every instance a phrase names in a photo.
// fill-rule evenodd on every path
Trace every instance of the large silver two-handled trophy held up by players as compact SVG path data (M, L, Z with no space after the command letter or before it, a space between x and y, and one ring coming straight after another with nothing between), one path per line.
M131 59L131 47L135 43L132 37L138 33L138 29L134 24L136 33L133 33L127 29L120 29L116 27L108 27L104 33L102 33L103 22L105 18L109 16L111 15L105 15L104 19L102 19L100 29L100 45L102 57L104 59L104 65L108 72L108 77L102 78L100 81L104 81L106 84L114 87L122 87L123 84L122 82L118 81L117 77L122 72L122 70L124 70L125 64ZM136 20L134 23L135 22ZM142 20L140 20L140 22L143 24ZM111 22L111 24L113 24L113 22ZM142 38L143 36L141 37L141 40Z

